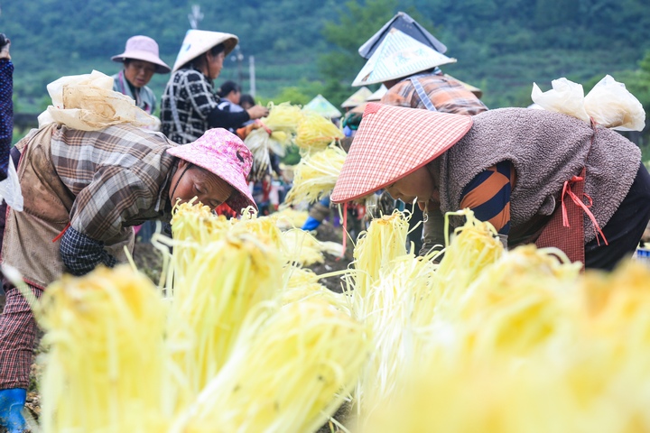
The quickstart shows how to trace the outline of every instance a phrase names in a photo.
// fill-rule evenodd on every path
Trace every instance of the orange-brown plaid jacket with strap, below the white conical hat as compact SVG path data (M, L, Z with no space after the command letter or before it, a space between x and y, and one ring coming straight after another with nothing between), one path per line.
M487 111L487 106L454 78L430 74L418 76L416 79L422 84L433 106L442 113L478 115ZM388 89L381 103L389 106L426 109L409 78L404 78Z

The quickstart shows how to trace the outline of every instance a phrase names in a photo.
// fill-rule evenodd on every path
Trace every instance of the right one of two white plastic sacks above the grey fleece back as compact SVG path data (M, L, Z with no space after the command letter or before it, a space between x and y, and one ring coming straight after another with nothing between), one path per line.
M597 124L618 131L642 131L645 111L625 84L606 75L584 98L587 113Z

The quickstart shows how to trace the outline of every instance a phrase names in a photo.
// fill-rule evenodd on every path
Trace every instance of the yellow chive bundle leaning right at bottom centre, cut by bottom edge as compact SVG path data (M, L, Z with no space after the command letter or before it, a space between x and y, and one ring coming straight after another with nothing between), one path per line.
M247 318L228 364L169 431L314 431L366 359L365 328L326 302L260 309Z

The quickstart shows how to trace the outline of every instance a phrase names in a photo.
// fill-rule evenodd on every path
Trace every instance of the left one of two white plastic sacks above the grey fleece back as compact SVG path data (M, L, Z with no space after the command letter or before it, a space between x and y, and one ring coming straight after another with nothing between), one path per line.
M547 111L572 115L585 122L590 122L590 116L585 111L584 90L581 84L574 83L567 78L558 78L553 79L551 85L551 90L542 92L537 84L533 83L531 98L535 104L542 106Z

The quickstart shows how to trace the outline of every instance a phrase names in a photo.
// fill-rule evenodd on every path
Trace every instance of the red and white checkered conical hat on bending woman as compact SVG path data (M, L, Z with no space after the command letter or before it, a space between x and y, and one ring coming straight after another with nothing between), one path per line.
M469 115L450 115L368 103L331 200L367 196L433 161L472 125Z

